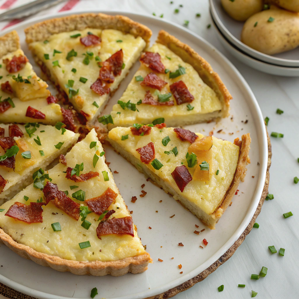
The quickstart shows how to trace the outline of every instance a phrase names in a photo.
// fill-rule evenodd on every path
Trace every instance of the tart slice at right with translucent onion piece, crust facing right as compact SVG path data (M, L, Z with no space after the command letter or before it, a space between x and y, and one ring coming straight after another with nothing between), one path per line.
M231 143L165 126L117 127L107 140L140 172L215 229L240 179L245 178L250 135Z

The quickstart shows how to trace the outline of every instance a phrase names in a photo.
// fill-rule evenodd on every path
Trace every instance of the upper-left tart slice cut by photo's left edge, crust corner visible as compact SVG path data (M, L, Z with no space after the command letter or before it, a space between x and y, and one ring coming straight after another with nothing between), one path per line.
M0 123L54 125L63 120L58 100L33 71L16 31L0 37L0 65Z

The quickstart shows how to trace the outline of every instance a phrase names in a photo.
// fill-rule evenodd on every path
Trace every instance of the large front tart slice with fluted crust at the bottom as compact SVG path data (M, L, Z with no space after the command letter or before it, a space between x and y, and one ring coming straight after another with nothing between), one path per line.
M4 244L40 265L74 274L119 276L147 269L151 258L94 129L61 163L43 176L36 173L36 180L43 190L31 184L0 207Z

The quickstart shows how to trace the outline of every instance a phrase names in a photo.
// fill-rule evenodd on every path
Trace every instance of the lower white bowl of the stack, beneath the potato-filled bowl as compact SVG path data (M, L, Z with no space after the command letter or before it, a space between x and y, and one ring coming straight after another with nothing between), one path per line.
M211 14L211 12L210 12ZM211 14L211 18L213 16ZM247 64L251 68L254 68L258 71L271 74L271 75L279 75L279 76L286 76L286 77L298 77L299 76L299 67L298 68L288 68L279 65L273 65L270 63L262 62L260 60L254 59L245 53L243 53L240 49L236 48L225 36L221 33L220 29L217 27L216 22L213 22L213 25L216 29L217 36L224 46L226 50L228 50L234 57L238 60L242 61L243 63Z

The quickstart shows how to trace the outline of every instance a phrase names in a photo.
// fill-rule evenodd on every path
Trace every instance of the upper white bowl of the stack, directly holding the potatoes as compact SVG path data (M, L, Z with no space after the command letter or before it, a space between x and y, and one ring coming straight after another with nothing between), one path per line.
M286 67L299 67L298 49L275 55L267 55L243 44L240 41L240 37L244 22L238 22L232 19L222 8L221 0L209 0L209 2L211 15L218 29L235 47L245 52L245 54L263 62Z

